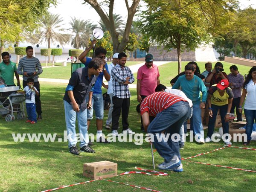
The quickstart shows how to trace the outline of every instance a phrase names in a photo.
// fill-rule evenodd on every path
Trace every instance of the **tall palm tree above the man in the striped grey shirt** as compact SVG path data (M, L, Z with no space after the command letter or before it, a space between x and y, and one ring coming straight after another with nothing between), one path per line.
M63 19L58 14L52 14L43 16L41 20L42 31L39 33L41 37L41 42L43 41L48 43L48 48L51 48L51 42L56 44L57 42L63 46L67 42L69 42L70 35L65 32L66 29L61 28L64 23ZM50 56L48 57L50 62Z

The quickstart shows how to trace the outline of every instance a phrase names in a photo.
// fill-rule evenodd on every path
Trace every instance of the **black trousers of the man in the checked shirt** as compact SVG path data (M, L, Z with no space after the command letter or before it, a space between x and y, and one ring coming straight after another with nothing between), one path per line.
M129 128L128 115L130 108L130 98L121 99L116 96L112 97L113 112L112 112L112 130L117 130L119 125L119 117L122 111L122 130Z

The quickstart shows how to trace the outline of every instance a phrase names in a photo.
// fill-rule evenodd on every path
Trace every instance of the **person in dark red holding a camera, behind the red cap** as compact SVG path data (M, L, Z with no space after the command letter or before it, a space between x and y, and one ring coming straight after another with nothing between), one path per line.
M221 62L217 62L212 72L209 72L205 82L209 83L209 87L211 87L214 84L218 84L222 79L228 80L228 77L224 72L223 64Z

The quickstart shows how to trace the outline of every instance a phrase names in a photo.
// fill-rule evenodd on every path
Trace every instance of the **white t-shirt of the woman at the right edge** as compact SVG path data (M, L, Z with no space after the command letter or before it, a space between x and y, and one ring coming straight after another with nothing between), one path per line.
M247 91L247 96L244 102L244 108L247 110L256 110L256 84L251 79L244 87Z

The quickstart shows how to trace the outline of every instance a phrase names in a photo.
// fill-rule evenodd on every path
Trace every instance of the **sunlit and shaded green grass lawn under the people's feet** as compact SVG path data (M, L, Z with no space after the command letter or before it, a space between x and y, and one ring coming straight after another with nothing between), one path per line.
M5 119L0 119L0 191L41 191L83 182L89 180L82 175L83 163L102 160L118 163L118 174L135 171L135 166L152 169L151 151L148 143L143 143L143 145L135 145L133 142L95 143L93 146L93 149L96 150L95 154L82 153L79 156L74 156L69 153L67 142L47 143L42 140L29 142L27 138L23 143L14 142L12 133L56 133L56 138L64 137L63 131L66 130L66 126L62 99L65 88L66 84L41 82L43 120L35 125L27 124L25 120L6 122ZM131 94L130 127L133 131L142 133L140 132L140 117L135 111L137 105L136 90L132 89ZM106 117L107 111L105 111L104 125ZM94 120L91 123L89 133L96 133ZM110 131L104 129L103 133L108 134ZM212 151L223 145L223 142L205 145L187 142L185 150L181 151L181 157L190 157ZM241 146L241 143L233 143L233 145ZM256 142L252 142L249 146L256 148ZM157 152L154 153L154 157L156 164L163 162ZM256 170L255 157L256 151L226 148L190 160ZM132 174L113 177L111 180L159 191L242 192L255 191L256 189L256 173L190 163L186 160L183 161L183 169L184 172L182 173L166 171L168 176ZM60 189L60 191L120 192L141 191L141 189L99 180Z

